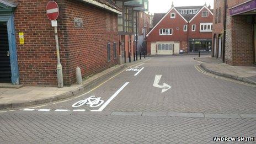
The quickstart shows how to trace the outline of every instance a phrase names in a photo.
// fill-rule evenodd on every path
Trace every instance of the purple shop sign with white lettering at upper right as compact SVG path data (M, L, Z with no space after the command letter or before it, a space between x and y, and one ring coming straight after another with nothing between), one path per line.
M230 15L241 14L256 9L256 0L243 3L230 9Z

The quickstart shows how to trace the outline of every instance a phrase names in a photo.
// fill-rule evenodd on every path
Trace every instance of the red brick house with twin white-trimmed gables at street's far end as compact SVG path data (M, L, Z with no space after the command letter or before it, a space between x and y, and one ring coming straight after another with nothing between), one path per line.
M161 15L153 18L153 29L147 34L148 55L211 51L213 13L210 6L172 6L160 19Z

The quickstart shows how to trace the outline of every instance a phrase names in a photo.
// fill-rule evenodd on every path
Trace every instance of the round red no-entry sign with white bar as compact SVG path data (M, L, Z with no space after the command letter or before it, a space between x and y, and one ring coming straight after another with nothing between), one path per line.
M54 1L50 1L46 6L46 15L50 20L56 20L60 11L58 10L58 4Z

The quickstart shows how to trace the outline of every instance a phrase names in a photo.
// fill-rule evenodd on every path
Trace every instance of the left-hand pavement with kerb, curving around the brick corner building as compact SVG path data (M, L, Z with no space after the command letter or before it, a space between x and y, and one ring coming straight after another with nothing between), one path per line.
M44 104L63 100L79 95L84 90L92 89L114 74L124 70L127 66L148 60L142 58L139 61L132 61L123 65L117 65L103 72L94 74L81 84L73 84L70 87L36 87L36 86L10 86L10 84L0 84L0 109L18 108L36 104Z

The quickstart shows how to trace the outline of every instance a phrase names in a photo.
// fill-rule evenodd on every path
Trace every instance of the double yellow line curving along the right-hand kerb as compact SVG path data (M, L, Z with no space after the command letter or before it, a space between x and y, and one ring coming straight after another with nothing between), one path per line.
M254 87L254 88L256 88L256 85L254 85L254 84L249 84L249 83L237 81L237 80L234 80L234 79L231 79L231 78L221 77L221 76L217 76L217 75L215 75L215 74L211 74L211 73L205 72L205 71L201 70L200 65L195 65L195 68L196 68L196 70L198 70L200 73L206 74L207 76L210 76L210 77L214 77L214 78L218 78L218 79L223 79L223 80L225 80L225 81L229 81L229 82L233 82L233 83L238 83L238 84L242 84L242 85L244 85L244 86L249 86L249 87Z

